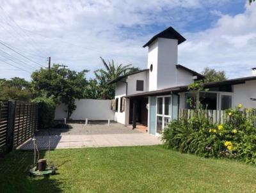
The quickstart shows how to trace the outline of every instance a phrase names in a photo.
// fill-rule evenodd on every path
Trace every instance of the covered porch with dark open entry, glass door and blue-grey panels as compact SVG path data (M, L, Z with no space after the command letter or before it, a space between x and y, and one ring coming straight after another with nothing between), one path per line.
M145 93L147 94L147 93ZM179 95L167 91L129 97L129 126L159 135L179 114Z

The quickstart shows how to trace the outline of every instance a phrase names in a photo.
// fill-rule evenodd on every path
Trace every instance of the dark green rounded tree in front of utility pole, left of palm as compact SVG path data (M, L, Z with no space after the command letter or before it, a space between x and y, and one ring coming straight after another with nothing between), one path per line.
M52 96L56 104L67 105L69 119L76 109L75 99L83 98L87 72L88 70L72 71L60 68L59 65L53 65L50 71L41 68L31 75L33 93L36 96Z

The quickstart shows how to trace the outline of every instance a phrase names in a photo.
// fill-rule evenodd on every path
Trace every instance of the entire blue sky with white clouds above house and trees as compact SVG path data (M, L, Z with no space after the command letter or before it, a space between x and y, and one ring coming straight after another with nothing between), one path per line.
M102 67L100 56L147 68L142 45L169 26L187 39L178 60L188 68L208 66L235 78L256 66L256 3L246 0L0 0L0 6L0 41L23 55L1 44L0 78L29 80L48 56L90 70L88 77Z

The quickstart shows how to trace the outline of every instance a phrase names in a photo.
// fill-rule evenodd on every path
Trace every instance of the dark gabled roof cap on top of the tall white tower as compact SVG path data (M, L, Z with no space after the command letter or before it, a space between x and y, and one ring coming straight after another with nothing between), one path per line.
M186 39L182 35L180 35L175 29L173 29L173 27L168 27L167 29L164 29L164 31L161 31L153 38L151 38L145 45L143 45L143 47L150 45L150 43L154 42L156 38L175 39L178 40L178 44L186 41Z

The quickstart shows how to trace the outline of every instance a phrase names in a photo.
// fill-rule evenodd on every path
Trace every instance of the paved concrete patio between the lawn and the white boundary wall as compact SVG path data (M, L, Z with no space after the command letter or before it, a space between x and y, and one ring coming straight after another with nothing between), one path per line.
M36 144L40 150L49 148L86 148L86 147L113 147L113 146L147 146L161 144L158 137L132 130L119 123L91 123L89 125L72 123L70 129L51 129L49 132L40 131L35 135ZM50 135L49 135L50 134ZM19 147L20 150L32 150L33 141L29 139Z

